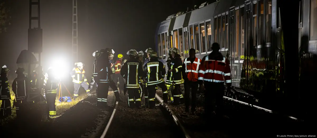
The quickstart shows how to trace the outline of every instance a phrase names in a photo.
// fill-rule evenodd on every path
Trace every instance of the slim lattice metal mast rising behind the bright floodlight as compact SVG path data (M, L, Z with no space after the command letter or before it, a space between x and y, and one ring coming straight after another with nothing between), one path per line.
M73 61L78 62L78 18L77 18L77 0L73 0Z

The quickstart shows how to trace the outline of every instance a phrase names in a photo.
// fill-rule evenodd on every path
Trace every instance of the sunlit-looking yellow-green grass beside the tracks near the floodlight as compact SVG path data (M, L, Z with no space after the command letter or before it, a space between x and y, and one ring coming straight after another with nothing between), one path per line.
M15 97L15 94L12 91L12 85L10 84L10 95L11 95L11 108L13 107L13 100ZM66 110L68 110L70 107L76 105L79 101L83 100L84 98L87 97L87 94L82 94L79 95L76 100L73 100L71 102L62 102L60 103L58 100L58 95L56 95L56 100L55 100L55 106L56 106L56 116L54 118L57 118L62 115L62 113ZM2 100L0 100L0 106L2 104ZM7 118L0 119L0 126L3 126L4 124L10 122L11 120L14 120L16 118L16 107L11 109L11 116Z

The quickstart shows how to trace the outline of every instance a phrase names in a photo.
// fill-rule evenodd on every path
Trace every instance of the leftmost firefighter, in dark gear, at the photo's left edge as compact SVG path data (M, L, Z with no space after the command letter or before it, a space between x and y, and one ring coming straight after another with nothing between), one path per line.
M0 118L6 118L11 115L11 95L8 81L9 72L10 70L7 68L7 66L2 66L0 74L0 100L2 100Z

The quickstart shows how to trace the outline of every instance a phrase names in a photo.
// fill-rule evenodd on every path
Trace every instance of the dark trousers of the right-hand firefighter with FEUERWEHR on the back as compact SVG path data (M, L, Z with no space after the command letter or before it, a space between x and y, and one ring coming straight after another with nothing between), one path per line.
M163 92L163 100L164 102L168 100L167 95L167 88L165 82L159 83L157 85L147 85L148 93L149 93L149 108L154 108L155 106L155 94L156 94L156 87L160 87Z

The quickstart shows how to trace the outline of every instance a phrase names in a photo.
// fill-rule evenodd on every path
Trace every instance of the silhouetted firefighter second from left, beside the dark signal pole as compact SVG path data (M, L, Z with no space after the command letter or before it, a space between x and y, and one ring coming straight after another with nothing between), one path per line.
M16 95L15 106L16 106L16 116L21 116L21 107L23 104L23 99L31 91L31 83L29 78L24 74L23 68L16 68L17 78L14 79L12 83L12 91Z

